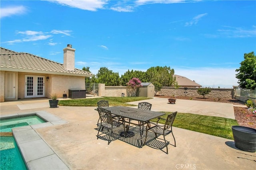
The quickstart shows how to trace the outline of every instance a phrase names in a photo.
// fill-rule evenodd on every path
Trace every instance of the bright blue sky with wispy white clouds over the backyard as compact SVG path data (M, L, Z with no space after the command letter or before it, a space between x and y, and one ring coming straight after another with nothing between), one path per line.
M1 0L1 47L97 74L170 66L202 86L232 88L256 53L255 0Z

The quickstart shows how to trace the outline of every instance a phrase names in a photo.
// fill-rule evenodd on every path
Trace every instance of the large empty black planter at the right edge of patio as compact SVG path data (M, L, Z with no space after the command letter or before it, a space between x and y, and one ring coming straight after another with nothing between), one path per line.
M238 149L255 152L256 151L256 129L244 126L232 126L235 146Z

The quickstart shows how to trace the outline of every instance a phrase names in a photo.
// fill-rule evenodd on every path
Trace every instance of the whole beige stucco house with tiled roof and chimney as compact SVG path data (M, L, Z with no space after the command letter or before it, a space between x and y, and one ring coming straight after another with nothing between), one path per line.
M85 89L86 77L92 73L75 68L72 45L63 49L63 64L29 53L0 47L0 102L22 98L58 98L69 89Z

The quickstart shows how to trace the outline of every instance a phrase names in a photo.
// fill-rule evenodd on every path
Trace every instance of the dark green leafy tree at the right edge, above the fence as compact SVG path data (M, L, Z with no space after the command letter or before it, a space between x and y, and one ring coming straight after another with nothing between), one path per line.
M240 88L252 89L256 88L256 56L254 52L244 54L240 68L236 69L236 78Z

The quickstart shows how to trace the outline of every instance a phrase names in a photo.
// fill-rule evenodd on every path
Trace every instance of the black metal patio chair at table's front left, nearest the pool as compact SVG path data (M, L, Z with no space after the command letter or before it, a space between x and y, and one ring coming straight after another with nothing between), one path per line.
M99 138L100 129L103 131L104 128L107 128L108 132L110 130L110 134L108 134L108 145L109 145L110 137L112 137L113 129L120 125L124 125L124 123L120 122L120 119L116 119L112 117L111 111L106 110L104 108L100 108L100 107L98 107L97 109L100 115L100 127L98 130L97 139ZM125 126L124 126L124 130L125 130Z

